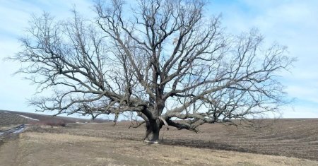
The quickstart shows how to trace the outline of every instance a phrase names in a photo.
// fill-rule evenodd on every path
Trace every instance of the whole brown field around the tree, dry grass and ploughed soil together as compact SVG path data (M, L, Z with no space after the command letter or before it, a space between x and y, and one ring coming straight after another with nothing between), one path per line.
M13 153L12 165L318 165L318 119L262 119L254 128L207 124L198 134L163 128L161 145L141 141L143 126L128 126L33 124L20 138L0 146L0 161L7 151Z

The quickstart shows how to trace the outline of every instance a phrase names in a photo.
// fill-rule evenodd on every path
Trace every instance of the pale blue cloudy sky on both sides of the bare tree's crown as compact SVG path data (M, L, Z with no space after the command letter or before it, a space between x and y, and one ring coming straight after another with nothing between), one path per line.
M28 105L36 86L13 75L20 64L3 61L20 50L19 37L28 27L31 13L47 11L57 19L71 17L71 8L94 17L90 0L0 0L0 109L34 112ZM240 34L258 28L266 43L288 47L298 61L280 78L291 105L283 107L284 118L318 118L318 1L317 0L211 0L208 15L221 14L227 32ZM49 112L45 112L49 114Z

